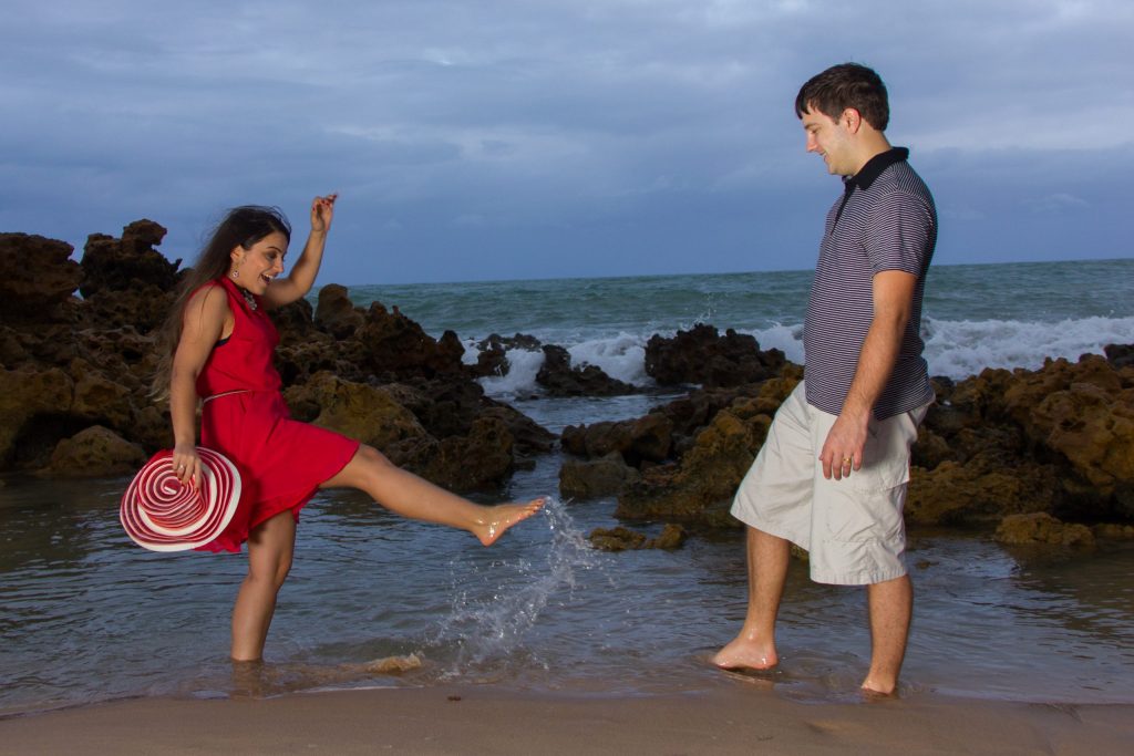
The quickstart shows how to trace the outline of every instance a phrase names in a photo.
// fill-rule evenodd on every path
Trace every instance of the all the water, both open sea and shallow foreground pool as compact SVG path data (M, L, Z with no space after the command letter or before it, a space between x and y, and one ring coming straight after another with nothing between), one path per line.
M924 333L932 372L1038 367L1134 341L1134 261L936 269ZM353 287L469 346L536 335L577 362L650 385L652 333L696 322L752 333L799 359L806 273ZM637 417L671 397L549 399L538 354L488 392L560 432ZM499 496L555 494L558 452ZM136 696L278 695L361 686L497 683L644 695L752 682L802 702L855 700L869 661L862 591L810 583L793 563L780 670L736 678L708 660L744 615L743 534L701 534L677 551L592 551L615 501L564 502L491 549L400 519L356 492L304 510L295 567L262 668L227 661L243 555L154 554L117 519L127 481L10 476L0 486L0 715ZM481 500L484 500L481 496ZM634 524L653 534L661 524ZM950 530L912 534L916 614L903 695L1042 703L1134 703L1134 544L1091 553L1008 550ZM399 676L367 666L414 655Z

